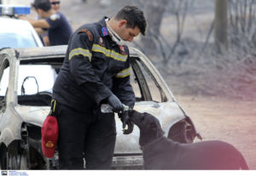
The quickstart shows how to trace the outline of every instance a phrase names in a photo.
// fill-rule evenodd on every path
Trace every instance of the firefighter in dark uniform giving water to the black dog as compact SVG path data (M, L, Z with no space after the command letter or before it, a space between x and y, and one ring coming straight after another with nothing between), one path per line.
M131 42L145 35L143 11L125 6L112 18L79 27L70 37L67 54L53 88L59 125L61 169L109 169L113 159L116 127L113 113L103 114L108 103L113 111L123 104L133 108L135 95L130 84L129 50L122 41ZM133 124L128 112L119 113L125 134Z

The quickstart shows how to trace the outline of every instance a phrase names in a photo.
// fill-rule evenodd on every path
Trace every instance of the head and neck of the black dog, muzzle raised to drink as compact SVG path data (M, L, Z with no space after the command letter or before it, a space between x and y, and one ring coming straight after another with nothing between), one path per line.
M131 122L140 129L139 145L144 146L154 139L158 139L164 135L164 131L160 126L157 118L147 112L140 113L138 111L129 111Z

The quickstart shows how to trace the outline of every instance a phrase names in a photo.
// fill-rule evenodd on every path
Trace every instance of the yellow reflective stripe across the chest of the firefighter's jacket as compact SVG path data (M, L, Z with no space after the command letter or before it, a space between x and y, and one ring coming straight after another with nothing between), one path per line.
M123 62L125 62L127 60L127 57L128 57L127 54L125 54L125 55L119 54L119 53L117 53L113 50L104 48L104 47L102 47L101 45L98 45L98 44L93 44L91 50L94 51L94 52L105 54L107 57L110 57L113 60L119 60L119 61L123 61Z

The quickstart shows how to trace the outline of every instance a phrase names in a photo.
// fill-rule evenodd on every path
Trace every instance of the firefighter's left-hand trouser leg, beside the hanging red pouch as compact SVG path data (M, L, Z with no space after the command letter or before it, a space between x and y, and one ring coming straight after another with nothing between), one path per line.
M60 169L84 169L84 138L92 113L81 113L66 105L58 105Z

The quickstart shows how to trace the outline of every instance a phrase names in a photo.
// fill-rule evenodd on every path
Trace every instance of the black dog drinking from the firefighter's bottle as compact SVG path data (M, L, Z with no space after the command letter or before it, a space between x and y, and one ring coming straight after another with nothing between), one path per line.
M160 122L148 113L130 111L131 122L140 129L145 169L248 169L236 148L222 141L180 144L164 137Z

